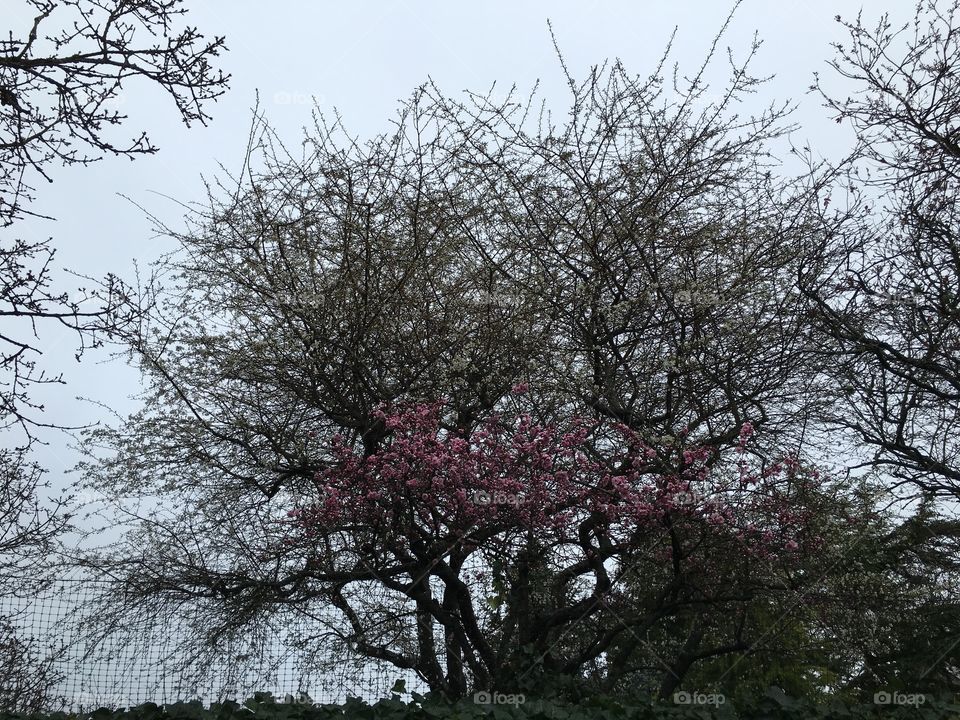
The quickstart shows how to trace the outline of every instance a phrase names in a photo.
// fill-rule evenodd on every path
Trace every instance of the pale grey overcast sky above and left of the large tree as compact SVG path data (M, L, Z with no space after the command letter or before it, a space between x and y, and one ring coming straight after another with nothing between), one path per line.
M23 0L2 0L15 35L29 28L31 12ZM910 18L905 0L880 0L864 11L871 21L884 11L897 24ZM13 7L12 13L6 11ZM202 176L213 177L218 163L239 167L250 127L251 108L259 91L261 105L281 138L299 145L301 127L310 124L316 103L324 112L337 109L344 124L361 138L388 129L398 102L429 78L447 94L486 91L491 84L529 90L539 79L543 95L556 113L566 108L567 89L547 28L552 21L572 74L582 78L591 65L619 58L631 73L651 72L674 27L673 58L681 74L695 74L732 3L718 0L675 2L306 2L301 0L187 0L188 21L207 36L225 35L221 67L232 74L232 87L215 105L208 127L186 128L168 99L147 83L131 84L121 98L130 116L120 137L149 132L160 152L130 162L107 158L90 167L58 169L53 185L39 187L36 209L55 222L27 221L15 226L19 236L53 238L57 248L56 287L78 283L61 272L103 277L112 272L133 283L134 260L146 267L161 252L173 249L156 237L143 211L120 196L129 196L162 221L179 226L179 203L204 198ZM828 157L849 146L849 130L832 123L818 97L807 92L813 73L828 84L826 61L831 42L844 41L834 20L852 18L859 2L838 0L744 0L720 44L711 77L723 78L727 46L735 58L749 50L754 31L764 41L755 74L774 75L756 108L774 99L799 103L794 120L798 145L810 144ZM51 18L53 21L57 13ZM838 86L842 87L842 86ZM58 328L41 327L46 356L39 365L63 372L68 385L38 388L34 398L46 404L45 418L63 424L105 420L102 408L81 402L81 395L126 415L136 408L138 372L106 351L73 359L75 338ZM66 471L78 460L69 438L56 432L38 447L37 459L57 488L75 479Z

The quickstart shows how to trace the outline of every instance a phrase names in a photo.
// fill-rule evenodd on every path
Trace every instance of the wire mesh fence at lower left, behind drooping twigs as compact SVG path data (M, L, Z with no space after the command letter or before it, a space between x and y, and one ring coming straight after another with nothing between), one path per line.
M426 691L410 671L348 651L325 655L332 608L285 610L200 656L187 650L202 645L199 605L105 622L112 587L74 577L29 597L0 594L0 709L206 704L264 691L298 702L341 703L348 696L374 702L388 697L397 679Z

